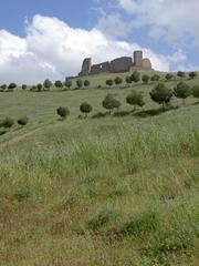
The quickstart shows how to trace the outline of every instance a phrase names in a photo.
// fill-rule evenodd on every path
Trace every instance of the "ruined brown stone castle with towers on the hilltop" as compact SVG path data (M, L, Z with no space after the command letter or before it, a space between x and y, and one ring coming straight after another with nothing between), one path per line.
M92 59L84 59L82 70L78 73L80 76L90 74L100 74L104 72L121 73L129 71L149 71L153 70L149 59L143 58L143 51L135 51L134 59L129 57L123 57L114 59L113 61L103 62L100 64L92 64Z

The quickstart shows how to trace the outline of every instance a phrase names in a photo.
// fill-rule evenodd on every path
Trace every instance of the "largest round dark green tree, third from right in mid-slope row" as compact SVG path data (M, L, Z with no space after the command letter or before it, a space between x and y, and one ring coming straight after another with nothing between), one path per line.
M150 92L150 99L154 102L163 104L163 108L165 108L166 103L170 102L171 98L171 90L168 89L164 83L158 83Z

